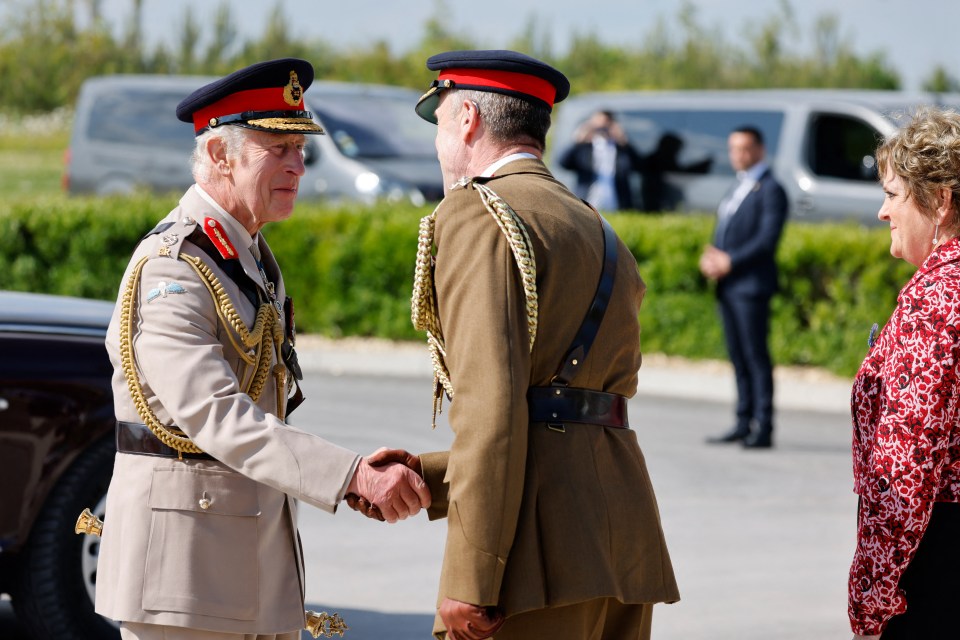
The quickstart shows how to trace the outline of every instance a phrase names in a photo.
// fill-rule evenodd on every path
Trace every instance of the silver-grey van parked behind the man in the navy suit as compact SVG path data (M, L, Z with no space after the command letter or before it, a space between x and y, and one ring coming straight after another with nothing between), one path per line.
M652 157L663 147L661 140L672 140L671 164L698 168L632 176L639 210L714 212L734 180L727 136L750 125L763 132L792 220L875 224L883 200L873 157L877 143L923 104L960 105L960 94L779 89L582 94L557 105L551 169L573 187L575 176L557 159L580 123L596 111L610 111L641 155ZM643 202L645 179L662 180L655 190L660 202Z

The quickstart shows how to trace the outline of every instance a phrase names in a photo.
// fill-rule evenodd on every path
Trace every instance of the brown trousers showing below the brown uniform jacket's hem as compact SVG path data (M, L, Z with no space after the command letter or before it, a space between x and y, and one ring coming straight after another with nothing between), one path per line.
M599 598L510 616L495 640L650 640L652 604Z

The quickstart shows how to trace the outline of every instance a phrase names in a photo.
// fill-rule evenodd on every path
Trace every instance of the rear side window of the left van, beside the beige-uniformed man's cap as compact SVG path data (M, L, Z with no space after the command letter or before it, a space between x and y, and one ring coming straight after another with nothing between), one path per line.
M145 147L165 147L189 153L193 127L176 117L178 92L141 92L129 87L105 91L97 97L88 135L95 140Z

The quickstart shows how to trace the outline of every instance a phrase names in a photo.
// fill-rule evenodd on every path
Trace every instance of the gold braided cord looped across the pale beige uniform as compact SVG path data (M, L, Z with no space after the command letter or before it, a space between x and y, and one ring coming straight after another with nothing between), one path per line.
M123 299L120 308L120 364L123 368L123 375L127 380L127 389L130 391L130 397L137 409L137 413L147 425L153 435L155 435L163 444L176 449L180 453L202 453L203 450L190 440L188 436L175 427L168 427L162 424L157 415L150 408L146 396L143 393L143 385L140 384L140 377L137 374L136 355L133 350L133 325L135 321L134 298L140 275L146 264L148 257L144 257L138 262L133 272L130 274L130 280L123 292ZM180 259L193 267L200 280L206 285L207 290L213 298L217 309L217 315L224 326L228 327L227 335L234 349L240 355L240 358L248 365L256 364L256 370L253 377L245 385L244 392L256 402L263 393L263 387L266 384L267 376L270 374L270 363L272 356L276 352L277 366L273 369L273 374L277 378L277 415L283 419L286 399L286 369L283 360L280 357L280 345L283 343L283 329L280 326L279 315L276 308L269 302L260 305L257 310L257 319L254 322L253 330L247 330L240 315L237 313L233 302L224 290L223 285L217 276L207 267L200 258L180 254ZM234 334L229 328L240 336L240 343L237 343ZM269 330L267 329L269 327ZM255 348L254 348L255 347Z

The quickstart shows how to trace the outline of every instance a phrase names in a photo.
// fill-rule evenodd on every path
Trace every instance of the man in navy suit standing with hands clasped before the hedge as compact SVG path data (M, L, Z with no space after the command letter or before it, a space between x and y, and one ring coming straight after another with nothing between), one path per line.
M787 197L764 160L763 135L735 129L727 141L737 184L720 203L713 244L700 271L717 283L727 350L737 380L737 421L712 443L773 446L773 365L767 345L770 299L777 289L777 244Z

